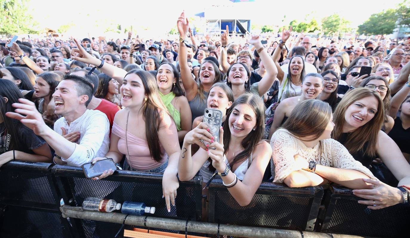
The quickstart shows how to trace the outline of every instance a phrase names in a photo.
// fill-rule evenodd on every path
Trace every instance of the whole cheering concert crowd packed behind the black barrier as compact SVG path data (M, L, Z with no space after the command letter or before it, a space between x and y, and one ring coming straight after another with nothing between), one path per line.
M168 211L197 174L203 186L220 177L241 206L262 181L340 184L369 209L408 202L409 39L292 27L199 38L185 13L177 27L179 38L159 41L3 40L0 165L112 158L163 173ZM219 133L205 108L222 112Z

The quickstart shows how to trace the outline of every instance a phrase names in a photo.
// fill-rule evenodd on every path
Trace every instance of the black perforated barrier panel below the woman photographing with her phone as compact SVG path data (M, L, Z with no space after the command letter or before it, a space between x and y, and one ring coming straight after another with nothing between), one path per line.
M209 222L313 231L323 196L321 186L289 188L263 182L251 203L241 207L215 180L210 185Z

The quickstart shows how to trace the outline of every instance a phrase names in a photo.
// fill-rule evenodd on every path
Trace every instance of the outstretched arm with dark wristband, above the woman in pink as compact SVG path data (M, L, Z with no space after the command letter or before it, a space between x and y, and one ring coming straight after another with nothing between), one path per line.
M74 39L74 41L75 44L77 44L77 48L73 48L71 50L71 55L73 55L71 58L73 60L96 66L99 66L101 64L102 61L88 54L88 52L85 51L85 49L80 45L80 43L78 43L77 39ZM104 63L103 67L100 68L100 71L118 81L120 85L122 85L123 79L127 74L127 71L107 63Z

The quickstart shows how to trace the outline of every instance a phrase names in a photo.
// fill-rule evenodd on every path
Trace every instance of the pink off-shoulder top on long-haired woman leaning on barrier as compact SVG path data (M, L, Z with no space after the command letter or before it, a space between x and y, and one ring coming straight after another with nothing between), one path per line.
M120 139L118 140L118 150L123 153L126 157L127 155L127 147L125 144L125 130L118 126L117 123L113 123L112 125L112 133ZM131 167L137 170L151 170L154 168L159 167L160 165L164 164L168 155L162 144L159 143L159 147L161 148L161 153L163 154L162 160L160 162L156 162L150 154L150 149L148 148L147 141L144 139L140 139L130 132L127 133L128 139L128 152L130 153L130 162ZM128 160L127 160L128 162Z

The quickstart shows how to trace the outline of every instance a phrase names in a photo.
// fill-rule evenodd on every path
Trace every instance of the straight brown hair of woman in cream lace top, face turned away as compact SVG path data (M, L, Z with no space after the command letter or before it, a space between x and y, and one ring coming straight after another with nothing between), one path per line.
M313 136L312 139L303 141L314 141L326 130L331 115L332 108L328 103L319 99L307 99L295 106L281 128L299 139Z

